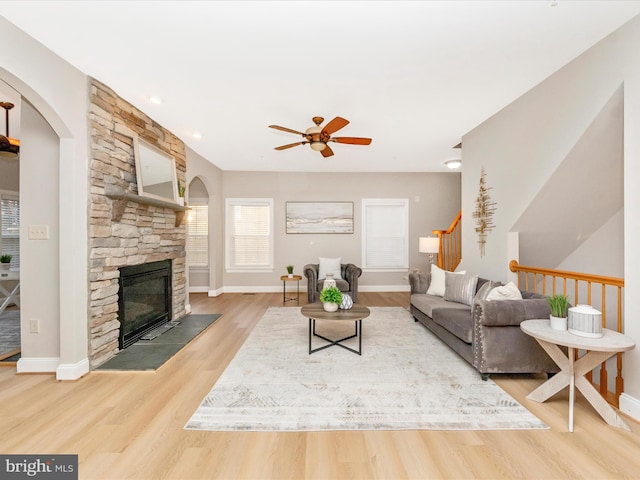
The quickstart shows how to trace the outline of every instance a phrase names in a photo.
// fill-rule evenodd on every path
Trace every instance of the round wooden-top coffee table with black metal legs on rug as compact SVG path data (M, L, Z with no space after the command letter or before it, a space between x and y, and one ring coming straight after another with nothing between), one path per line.
M325 348L333 347L334 345L342 347L345 350L349 350L350 352L357 353L358 355L362 355L362 320L367 318L371 314L367 307L365 307L364 305L354 304L353 307L349 310L325 312L324 308L322 307L322 303L310 303L304 305L300 311L302 315L309 319L309 355L315 352L319 352L320 350L324 350ZM333 322L354 322L355 333L339 340L332 340L316 333L316 320ZM323 345L322 347L314 349L311 345L313 337L321 338L329 343L327 345ZM344 342L345 340L356 337L358 338L358 350L343 345L342 342Z

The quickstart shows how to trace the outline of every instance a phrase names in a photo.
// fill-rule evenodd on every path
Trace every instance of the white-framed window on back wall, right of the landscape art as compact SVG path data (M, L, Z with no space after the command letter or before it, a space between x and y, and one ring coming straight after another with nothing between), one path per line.
M362 199L362 268L409 268L409 200Z

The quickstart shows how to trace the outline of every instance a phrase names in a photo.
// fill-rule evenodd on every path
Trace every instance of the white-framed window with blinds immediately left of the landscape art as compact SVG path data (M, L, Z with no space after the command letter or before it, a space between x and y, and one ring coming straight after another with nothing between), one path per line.
M273 271L273 199L227 198L227 271Z

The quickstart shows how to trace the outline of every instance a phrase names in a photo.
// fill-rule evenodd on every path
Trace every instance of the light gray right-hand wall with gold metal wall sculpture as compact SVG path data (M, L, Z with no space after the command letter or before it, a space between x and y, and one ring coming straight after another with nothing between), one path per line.
M493 187L498 210L496 228L480 256L471 215L463 216L461 268L506 280L508 263L518 259L513 226L550 181L576 143L609 100L624 85L624 209L611 212L559 267L587 273L624 276L625 333L640 341L640 17L593 46L540 85L527 92L463 137L462 208L474 210L481 168ZM603 165L606 169L607 165ZM601 170L604 172L604 170ZM583 173L576 170L577 175ZM598 175L595 171L593 175ZM565 189L574 188L566 182ZM616 192L613 192L614 194ZM567 197L563 197L562 201ZM568 196L570 199L571 196ZM574 199L575 200L575 199ZM560 201L560 200L558 200ZM585 205L574 201L575 211ZM550 214L553 209L549 209ZM610 227L613 232L604 234ZM621 234L620 229L624 229ZM623 236L623 239L622 239ZM594 255L598 261L594 262ZM599 265L607 267L600 271ZM595 271L594 271L595 269ZM640 418L640 349L625 353L625 393L620 407Z

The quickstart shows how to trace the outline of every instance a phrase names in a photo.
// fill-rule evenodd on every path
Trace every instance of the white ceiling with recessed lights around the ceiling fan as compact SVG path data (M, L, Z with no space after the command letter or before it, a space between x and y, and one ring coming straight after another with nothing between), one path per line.
M218 167L259 171L445 171L462 135L638 14L640 1L0 1ZM373 142L328 159L273 149L299 137L268 125L313 116Z

